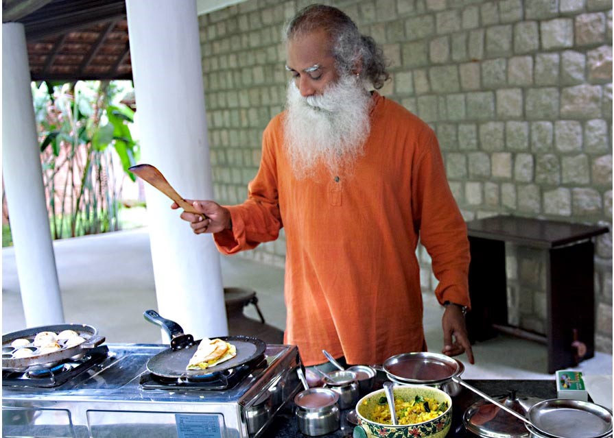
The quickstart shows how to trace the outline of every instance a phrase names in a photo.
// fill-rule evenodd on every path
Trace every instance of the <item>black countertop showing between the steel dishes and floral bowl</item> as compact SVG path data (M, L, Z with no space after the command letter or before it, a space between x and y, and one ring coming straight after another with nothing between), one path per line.
M503 396L508 390L515 389L517 396L530 396L541 399L556 398L556 382L554 380L467 380L469 385L480 389L489 396ZM381 384L381 382L380 382ZM462 415L471 404L482 400L480 396L467 388L463 388L458 396L452 398L452 426L447 438L473 438L476 435L467 432L462 426ZM352 437L353 424L346 421L347 410L342 411L341 428L334 433L320 435L322 438ZM265 431L268 438L305 437L298 430L296 418L292 413L280 413Z

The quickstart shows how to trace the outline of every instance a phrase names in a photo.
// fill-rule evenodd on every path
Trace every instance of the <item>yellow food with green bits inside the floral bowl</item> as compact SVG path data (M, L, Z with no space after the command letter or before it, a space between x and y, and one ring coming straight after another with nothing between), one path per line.
M366 401L363 403L366 404ZM394 409L397 411L399 424L418 424L439 417L448 409L448 404L447 402L440 403L434 398L416 396L410 402L395 398ZM379 424L392 424L386 397L382 397L379 400L373 410L373 418L369 419Z

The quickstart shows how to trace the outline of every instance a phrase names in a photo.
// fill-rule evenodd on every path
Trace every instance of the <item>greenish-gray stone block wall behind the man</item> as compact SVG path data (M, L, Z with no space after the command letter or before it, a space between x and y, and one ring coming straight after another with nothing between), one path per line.
M215 196L242 202L282 110L283 23L311 1L248 0L200 16ZM383 45L381 90L438 134L465 219L506 213L612 223L612 3L344 0ZM612 352L611 233L596 239L596 343ZM243 256L283 266L285 241ZM420 248L425 293L436 285ZM543 332L545 254L508 247L510 322Z

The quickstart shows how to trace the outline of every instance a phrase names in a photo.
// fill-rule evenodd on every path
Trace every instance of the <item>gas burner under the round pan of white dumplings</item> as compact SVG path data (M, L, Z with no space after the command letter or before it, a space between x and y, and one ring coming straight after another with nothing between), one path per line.
M69 360L51 368L32 368L25 372L2 370L2 386L10 387L58 387L64 382L75 378L82 372L87 371L94 365L104 361L108 356L108 347L101 345L92 348L79 359Z

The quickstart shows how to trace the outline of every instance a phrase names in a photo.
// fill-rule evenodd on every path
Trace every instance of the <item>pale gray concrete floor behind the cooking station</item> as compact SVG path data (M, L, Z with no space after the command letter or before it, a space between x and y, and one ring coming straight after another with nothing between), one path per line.
M160 330L143 319L143 311L157 309L147 228L55 241L54 250L67 323L95 326L108 343L161 343ZM238 256L222 256L221 261L224 286L255 290L267 324L283 330L283 269ZM258 319L253 305L248 305L244 313ZM425 295L425 334L433 352L439 352L442 345L441 313L434 296ZM23 328L14 250L3 248L2 331ZM500 335L476 343L473 352L475 365L460 357L465 365L464 378L554 379L546 372L545 345ZM599 389L606 387L606 402L602 404L611 408L612 356L598 352L575 369L589 382L599 380ZM602 384L604 379L609 385Z

